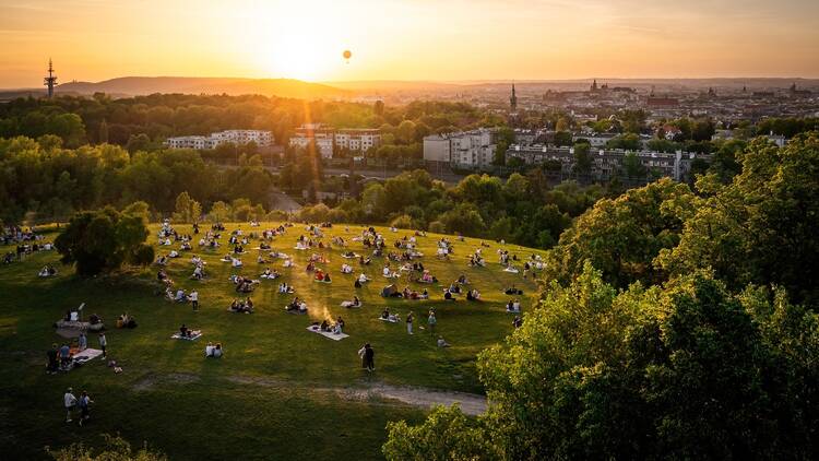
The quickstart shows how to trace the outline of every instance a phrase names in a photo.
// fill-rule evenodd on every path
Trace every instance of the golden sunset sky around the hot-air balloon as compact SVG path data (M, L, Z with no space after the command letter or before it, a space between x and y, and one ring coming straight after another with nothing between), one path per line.
M0 87L49 57L60 82L819 78L819 0L0 0Z

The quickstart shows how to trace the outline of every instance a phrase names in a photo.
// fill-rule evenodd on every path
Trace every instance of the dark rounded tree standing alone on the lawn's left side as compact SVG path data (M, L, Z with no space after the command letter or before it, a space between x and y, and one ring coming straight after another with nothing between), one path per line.
M74 215L55 239L64 264L88 276L119 269L122 264L146 265L153 247L142 216L120 214L112 208Z

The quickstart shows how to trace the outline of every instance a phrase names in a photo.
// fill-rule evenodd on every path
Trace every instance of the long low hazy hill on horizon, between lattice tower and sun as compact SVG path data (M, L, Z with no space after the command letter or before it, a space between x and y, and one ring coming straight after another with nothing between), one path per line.
M122 76L102 82L69 82L59 85L57 92L79 94L103 92L130 96L153 93L261 94L300 99L348 96L348 93L344 90L300 80L192 76Z

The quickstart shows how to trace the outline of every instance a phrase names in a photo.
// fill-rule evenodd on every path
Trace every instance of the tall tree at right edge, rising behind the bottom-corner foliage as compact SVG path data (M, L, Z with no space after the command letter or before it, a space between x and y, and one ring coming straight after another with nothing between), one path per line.
M741 164L727 186L715 175L697 181L705 200L658 263L675 274L710 268L733 287L774 283L796 300L819 299L819 132L782 149L756 139Z

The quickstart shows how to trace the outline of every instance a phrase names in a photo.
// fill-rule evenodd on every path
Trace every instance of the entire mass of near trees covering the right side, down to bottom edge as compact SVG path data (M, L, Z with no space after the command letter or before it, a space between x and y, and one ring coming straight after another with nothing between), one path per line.
M585 211L479 355L487 413L390 424L387 458L815 459L819 132L737 161Z

